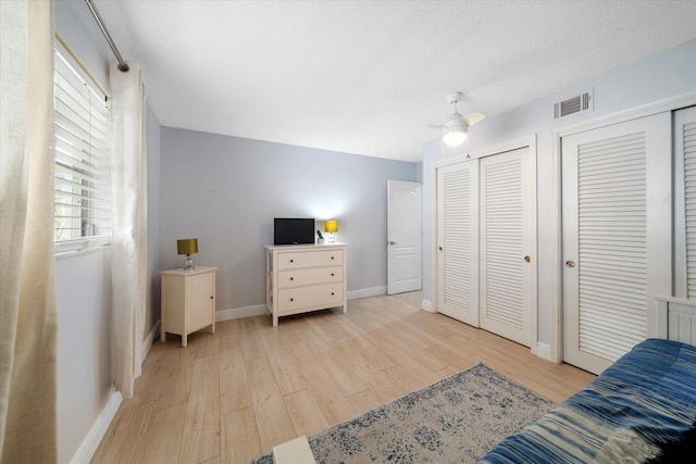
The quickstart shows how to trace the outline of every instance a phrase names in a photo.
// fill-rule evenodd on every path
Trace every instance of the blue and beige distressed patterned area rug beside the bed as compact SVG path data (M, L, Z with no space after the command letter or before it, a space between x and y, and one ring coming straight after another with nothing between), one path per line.
M320 464L468 463L554 406L478 364L308 440ZM247 464L273 464L273 456Z

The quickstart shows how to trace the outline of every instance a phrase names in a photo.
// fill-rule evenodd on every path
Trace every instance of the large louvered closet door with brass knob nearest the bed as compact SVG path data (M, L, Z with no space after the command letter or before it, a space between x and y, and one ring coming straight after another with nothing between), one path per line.
M670 114L562 139L563 360L600 373L671 291Z

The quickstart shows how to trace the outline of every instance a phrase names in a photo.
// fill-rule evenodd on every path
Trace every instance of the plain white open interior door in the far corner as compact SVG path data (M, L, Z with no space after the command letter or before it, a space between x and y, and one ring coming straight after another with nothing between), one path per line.
M387 293L421 289L421 185L387 180Z

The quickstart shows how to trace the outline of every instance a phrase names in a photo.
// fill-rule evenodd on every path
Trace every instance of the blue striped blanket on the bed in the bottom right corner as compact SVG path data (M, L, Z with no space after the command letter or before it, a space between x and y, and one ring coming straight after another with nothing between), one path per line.
M642 463L696 421L696 348L648 339L477 463Z

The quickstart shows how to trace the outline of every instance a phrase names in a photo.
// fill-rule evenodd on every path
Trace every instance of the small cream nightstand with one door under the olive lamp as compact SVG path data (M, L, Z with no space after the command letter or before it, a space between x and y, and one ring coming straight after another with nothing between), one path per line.
M186 347L188 334L211 327L215 333L215 271L217 267L196 266L194 269L161 271L162 327L160 339L166 333L182 336Z

